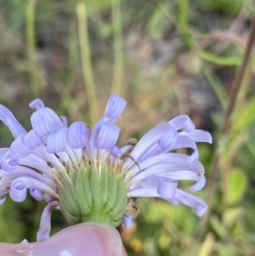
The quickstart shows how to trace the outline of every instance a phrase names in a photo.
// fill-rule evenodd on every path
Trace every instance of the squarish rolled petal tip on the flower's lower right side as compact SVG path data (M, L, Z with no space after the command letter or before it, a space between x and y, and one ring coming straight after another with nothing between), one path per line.
M160 178L157 185L157 193L162 198L173 198L177 189L178 182L174 179Z

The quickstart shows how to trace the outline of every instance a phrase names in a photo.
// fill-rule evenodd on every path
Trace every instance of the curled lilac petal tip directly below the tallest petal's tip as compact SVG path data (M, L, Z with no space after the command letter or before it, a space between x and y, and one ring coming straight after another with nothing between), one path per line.
M120 134L120 127L116 124L103 122L99 129L98 139L95 141L95 146L101 149L111 149L116 145L116 141Z

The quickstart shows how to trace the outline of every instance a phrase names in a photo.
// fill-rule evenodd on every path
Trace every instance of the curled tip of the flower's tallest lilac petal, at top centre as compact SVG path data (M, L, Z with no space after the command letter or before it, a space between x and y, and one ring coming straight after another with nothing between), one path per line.
M119 119L122 111L127 105L127 101L116 94L111 94L110 99L106 105L105 117L108 117L111 122L115 122Z

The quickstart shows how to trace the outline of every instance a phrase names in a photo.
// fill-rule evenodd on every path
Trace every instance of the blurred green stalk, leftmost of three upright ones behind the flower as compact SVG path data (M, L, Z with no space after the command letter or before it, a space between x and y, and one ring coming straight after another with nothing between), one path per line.
M26 49L30 72L30 88L34 97L38 96L37 62L35 47L35 0L26 0Z

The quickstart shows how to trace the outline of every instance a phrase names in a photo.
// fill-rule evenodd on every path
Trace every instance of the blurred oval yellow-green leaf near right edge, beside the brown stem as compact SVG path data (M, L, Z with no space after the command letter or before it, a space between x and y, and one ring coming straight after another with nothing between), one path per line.
M235 168L229 172L227 181L227 203L235 204L241 200L246 191L246 175L241 169Z

